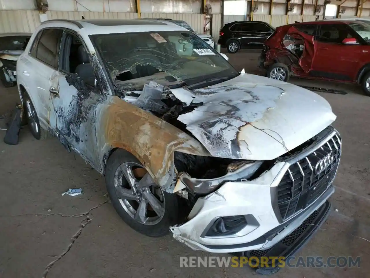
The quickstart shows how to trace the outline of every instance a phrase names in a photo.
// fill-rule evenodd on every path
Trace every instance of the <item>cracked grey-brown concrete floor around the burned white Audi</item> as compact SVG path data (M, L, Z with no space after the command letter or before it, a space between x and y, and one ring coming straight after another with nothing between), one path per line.
M228 55L238 70L245 67L246 72L263 74L256 67L257 51ZM273 277L369 277L370 97L350 85L292 82L348 91L347 95L320 94L337 115L334 126L343 138L343 156L330 216L297 255L362 259L361 268L284 268ZM16 101L16 88L0 87L0 115ZM0 137L4 135L0 131ZM1 140L0 165L0 277L40 278L45 270L48 278L255 275L249 268L180 268L180 256L209 254L192 251L170 235L148 238L129 228L107 203L104 178L55 138L38 141L22 129L19 145L6 145ZM80 187L83 195L61 196L68 188ZM82 228L81 223L87 221Z

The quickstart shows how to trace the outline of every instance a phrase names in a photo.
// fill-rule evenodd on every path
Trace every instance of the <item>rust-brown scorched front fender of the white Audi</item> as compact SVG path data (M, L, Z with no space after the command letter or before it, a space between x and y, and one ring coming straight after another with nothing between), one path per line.
M102 167L104 156L112 149L125 149L140 160L158 185L171 193L177 179L175 150L209 156L196 139L117 96L108 96L98 107L97 119Z

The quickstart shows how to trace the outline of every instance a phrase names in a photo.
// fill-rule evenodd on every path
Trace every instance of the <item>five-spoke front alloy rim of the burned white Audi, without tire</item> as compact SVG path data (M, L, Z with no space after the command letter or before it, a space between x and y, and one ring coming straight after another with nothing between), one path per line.
M144 225L160 222L165 212L162 189L138 163L122 163L114 174L114 187L122 208Z

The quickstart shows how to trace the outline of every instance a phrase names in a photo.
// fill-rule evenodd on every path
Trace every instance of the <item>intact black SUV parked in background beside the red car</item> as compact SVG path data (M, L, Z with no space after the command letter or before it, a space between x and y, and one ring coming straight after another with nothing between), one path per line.
M222 27L218 44L227 47L229 53L236 53L245 46L262 46L274 30L274 27L263 21L234 21Z

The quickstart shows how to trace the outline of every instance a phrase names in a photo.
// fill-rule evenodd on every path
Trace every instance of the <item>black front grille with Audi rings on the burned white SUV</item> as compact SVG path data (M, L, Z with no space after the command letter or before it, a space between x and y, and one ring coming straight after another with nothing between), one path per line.
M326 191L336 174L340 153L341 139L334 134L324 145L289 166L277 186L277 205L282 220L306 208ZM320 172L318 163L329 154L332 157L322 164Z

